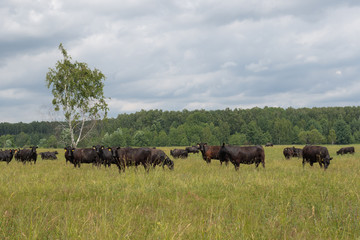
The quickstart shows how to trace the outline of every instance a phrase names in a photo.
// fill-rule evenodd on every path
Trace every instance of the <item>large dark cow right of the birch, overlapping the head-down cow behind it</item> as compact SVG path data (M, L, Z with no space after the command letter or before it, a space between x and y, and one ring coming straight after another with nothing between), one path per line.
M119 172L125 171L125 166L137 167L140 164L144 166L146 171L149 171L151 151L149 148L117 148L113 150L113 157L119 168Z

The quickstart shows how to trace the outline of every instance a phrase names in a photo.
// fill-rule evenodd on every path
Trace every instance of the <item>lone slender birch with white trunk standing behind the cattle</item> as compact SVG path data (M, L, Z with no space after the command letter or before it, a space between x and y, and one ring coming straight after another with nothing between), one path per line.
M94 128L96 121L106 117L108 105L103 88L104 74L89 69L86 63L72 62L62 44L62 61L46 74L47 87L53 94L55 111L62 111L69 129L71 145L76 147Z

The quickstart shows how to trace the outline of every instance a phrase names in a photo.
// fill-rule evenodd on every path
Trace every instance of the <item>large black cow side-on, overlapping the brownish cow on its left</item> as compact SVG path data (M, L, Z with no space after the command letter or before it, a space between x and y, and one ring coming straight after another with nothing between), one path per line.
M229 146L222 145L219 151L220 161L230 161L235 166L235 170L239 169L240 163L253 164L257 168L261 163L265 168L265 152L264 148L258 146Z

